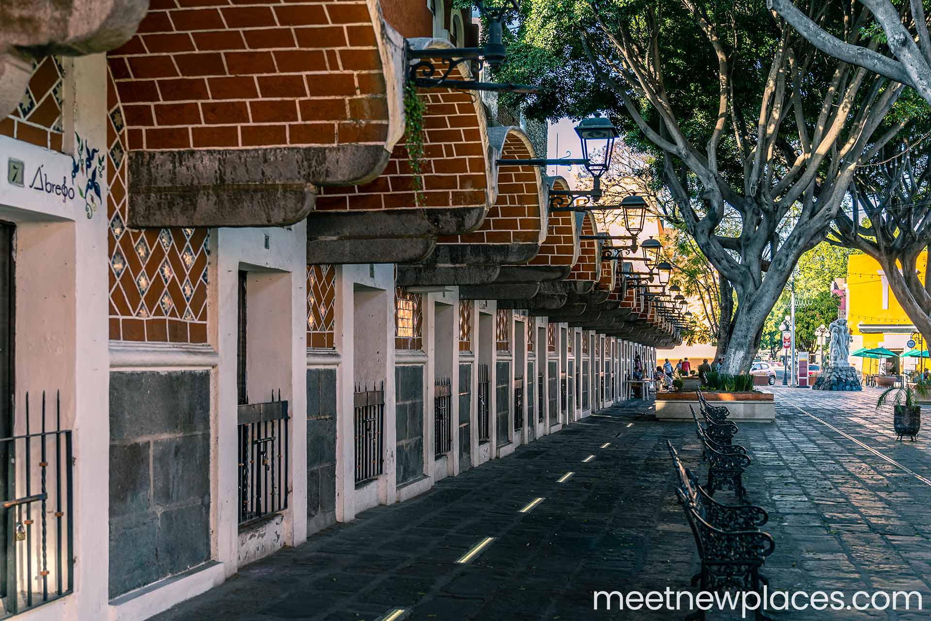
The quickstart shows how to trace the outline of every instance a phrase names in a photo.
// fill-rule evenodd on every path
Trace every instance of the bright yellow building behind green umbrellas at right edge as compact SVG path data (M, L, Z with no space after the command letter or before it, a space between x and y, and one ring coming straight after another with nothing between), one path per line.
M927 252L922 252L918 257L918 275L923 282L926 266ZM911 349L908 342L912 338L916 348L921 345L922 349L928 349L927 335L924 344L918 342L915 326L889 289L883 268L866 254L852 254L847 259L846 312L847 326L853 337L852 352L861 347L885 347L901 354ZM893 365L893 372L899 372L899 359L889 358L888 361ZM884 360L851 357L850 363L860 371L865 364L866 372L875 372L878 367L882 368ZM906 371L920 363L919 358L901 358L901 366ZM925 359L924 368L928 364Z

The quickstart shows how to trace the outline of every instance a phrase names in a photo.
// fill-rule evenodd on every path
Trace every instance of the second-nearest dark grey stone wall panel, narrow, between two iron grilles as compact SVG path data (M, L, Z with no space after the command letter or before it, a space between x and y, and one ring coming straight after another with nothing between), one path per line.
M336 370L307 370L307 522L336 521Z

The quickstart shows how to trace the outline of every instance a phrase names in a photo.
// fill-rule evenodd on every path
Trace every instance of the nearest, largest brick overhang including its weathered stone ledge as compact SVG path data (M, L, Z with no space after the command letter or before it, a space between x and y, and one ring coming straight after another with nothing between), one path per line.
M154 0L108 54L129 223L295 223L318 186L376 177L402 130L401 45L377 0Z

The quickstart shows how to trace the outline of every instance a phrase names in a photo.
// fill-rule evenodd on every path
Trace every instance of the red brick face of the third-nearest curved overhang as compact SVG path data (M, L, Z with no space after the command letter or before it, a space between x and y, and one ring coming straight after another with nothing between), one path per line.
M516 133L505 139L502 159L533 157L530 145ZM497 191L492 209L478 231L462 236L439 237L439 243L511 244L534 243L543 225L540 214L540 176L532 166L498 169Z

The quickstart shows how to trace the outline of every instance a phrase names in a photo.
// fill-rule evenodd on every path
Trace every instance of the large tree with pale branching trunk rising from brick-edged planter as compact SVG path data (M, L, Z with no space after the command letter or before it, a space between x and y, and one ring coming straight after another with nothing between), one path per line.
M816 4L841 40L860 43L864 8ZM857 167L909 126L890 114L903 87L831 58L758 3L525 0L521 11L506 73L538 85L527 113L603 111L654 154L666 215L721 279L725 371L748 371Z

